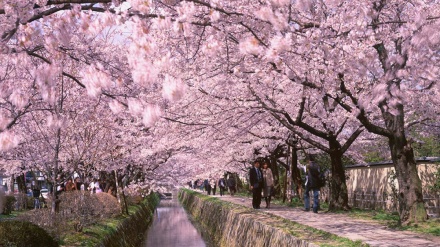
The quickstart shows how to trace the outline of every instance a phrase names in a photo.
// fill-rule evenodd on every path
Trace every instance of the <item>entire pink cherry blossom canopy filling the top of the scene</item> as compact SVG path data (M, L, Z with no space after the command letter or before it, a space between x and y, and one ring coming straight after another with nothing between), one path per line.
M412 145L439 129L439 19L436 0L2 0L3 167L156 182L239 170L293 133L340 187L374 134L406 220L423 203Z

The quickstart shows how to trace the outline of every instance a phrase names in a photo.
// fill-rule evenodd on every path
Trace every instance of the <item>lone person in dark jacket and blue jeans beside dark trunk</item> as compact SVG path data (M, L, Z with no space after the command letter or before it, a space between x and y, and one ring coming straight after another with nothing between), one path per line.
M318 213L320 190L320 169L313 156L309 156L306 166L306 190L304 193L305 211L310 211L310 192L313 192L313 212Z

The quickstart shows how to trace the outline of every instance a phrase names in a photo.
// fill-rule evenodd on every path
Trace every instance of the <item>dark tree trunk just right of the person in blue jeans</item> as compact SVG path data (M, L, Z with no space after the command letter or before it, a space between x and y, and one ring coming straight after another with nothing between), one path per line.
M348 191L345 181L345 169L342 165L343 153L340 150L340 145L337 141L329 141L330 144L330 160L331 160L331 179L329 179L330 186L330 201L329 211L348 210Z

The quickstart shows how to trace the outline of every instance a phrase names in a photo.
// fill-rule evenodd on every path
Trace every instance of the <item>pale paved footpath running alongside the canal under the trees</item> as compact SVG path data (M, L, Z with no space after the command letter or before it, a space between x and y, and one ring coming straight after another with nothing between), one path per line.
M215 197L252 207L252 198L231 197L229 195L222 197L215 195ZM264 199L261 205L266 205ZM375 222L353 219L343 214L327 212L315 214L313 212L304 212L300 208L289 208L280 205L271 205L270 209L262 207L260 210L354 241L361 240L370 246L440 247L440 237L422 236L421 234L409 231L397 231Z

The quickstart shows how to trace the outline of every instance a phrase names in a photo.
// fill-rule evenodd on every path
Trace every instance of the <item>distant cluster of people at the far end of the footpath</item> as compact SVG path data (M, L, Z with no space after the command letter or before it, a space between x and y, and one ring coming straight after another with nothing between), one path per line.
M215 179L197 179L194 184L192 181L188 182L188 186L192 189L200 189L206 191L208 195L215 195L217 188L219 188L220 196L225 195L225 192L229 189L229 194L234 196L237 193L237 183L232 175L229 175L228 179L224 177Z

